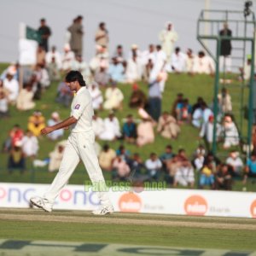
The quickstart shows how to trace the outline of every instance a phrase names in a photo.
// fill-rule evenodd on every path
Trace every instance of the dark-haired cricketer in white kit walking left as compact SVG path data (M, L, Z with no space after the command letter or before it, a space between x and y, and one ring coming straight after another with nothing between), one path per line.
M67 184L68 179L73 174L79 160L84 162L84 166L89 174L92 183L105 184L102 175L102 169L94 149L95 134L92 130L92 100L90 92L86 89L83 76L78 71L70 71L66 76L66 84L76 92L71 105L71 115L53 126L45 127L41 133L46 135L52 131L70 127L71 133L67 139L67 145L61 161L60 170L57 173L53 183L44 194L44 197L34 196L31 198L33 205L42 208L46 212L51 212L55 198L61 192L61 189ZM113 206L109 201L108 192L97 192L101 207L92 213L104 215L113 212Z

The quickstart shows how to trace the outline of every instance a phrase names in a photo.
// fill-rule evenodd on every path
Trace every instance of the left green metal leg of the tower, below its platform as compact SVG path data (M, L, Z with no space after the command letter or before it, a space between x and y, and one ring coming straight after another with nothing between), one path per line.
M217 38L217 52L216 52L216 61L215 61L215 80L214 80L214 97L213 97L213 114L214 114L214 123L213 123L213 139L212 139L212 153L216 154L217 152L217 116L218 116L218 84L219 84L219 65L218 59L220 54L220 43L221 38Z

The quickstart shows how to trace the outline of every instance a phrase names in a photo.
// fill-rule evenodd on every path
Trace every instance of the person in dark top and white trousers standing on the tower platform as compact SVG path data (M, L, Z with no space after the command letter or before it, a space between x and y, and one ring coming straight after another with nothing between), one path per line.
M228 23L224 23L224 28L219 32L220 37L232 37L232 32L229 29ZM219 69L221 71L231 72L231 40L223 39L220 41L220 57L219 57Z

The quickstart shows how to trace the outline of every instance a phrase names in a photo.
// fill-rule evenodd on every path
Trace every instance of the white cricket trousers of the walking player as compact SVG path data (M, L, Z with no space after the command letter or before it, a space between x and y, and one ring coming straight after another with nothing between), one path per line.
M67 184L73 174L79 160L82 160L92 183L100 182L105 185L102 169L96 156L94 131L71 133L67 139L67 145L61 160L59 172L53 183L44 194L44 198L54 202L61 189ZM111 204L107 191L97 191L102 205Z

